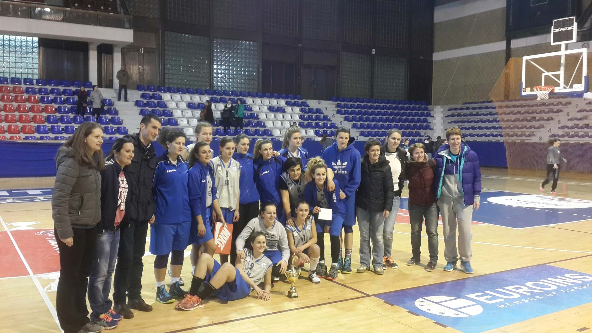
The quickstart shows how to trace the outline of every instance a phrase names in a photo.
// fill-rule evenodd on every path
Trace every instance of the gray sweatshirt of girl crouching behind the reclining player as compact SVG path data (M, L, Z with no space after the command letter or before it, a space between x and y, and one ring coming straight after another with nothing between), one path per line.
M236 251L240 251L244 248L247 239L251 233L260 231L265 233L266 246L265 250L279 250L282 252L282 260L288 262L290 257L290 248L288 247L288 236L284 226L281 225L277 220L271 228L266 228L263 225L263 217L258 216L250 220L249 223L244 227L243 231L236 238Z

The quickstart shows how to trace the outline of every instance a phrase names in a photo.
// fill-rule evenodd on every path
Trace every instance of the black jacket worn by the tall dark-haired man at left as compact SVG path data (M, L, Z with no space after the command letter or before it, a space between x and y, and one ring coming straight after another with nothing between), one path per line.
M154 146L144 146L140 133L126 135L134 141L134 158L126 167L127 184L130 187L127 195L126 219L139 223L148 223L156 212L152 181L156 170L156 153Z

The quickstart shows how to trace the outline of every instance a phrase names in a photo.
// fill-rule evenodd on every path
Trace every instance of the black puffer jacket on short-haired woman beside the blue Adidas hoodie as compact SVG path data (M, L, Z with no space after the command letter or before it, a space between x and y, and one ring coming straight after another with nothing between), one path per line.
M356 190L356 207L368 212L382 212L383 210L390 212L394 197L393 190L391 167L388 165L384 153L380 153L375 164L370 164L368 154L364 154L360 185Z

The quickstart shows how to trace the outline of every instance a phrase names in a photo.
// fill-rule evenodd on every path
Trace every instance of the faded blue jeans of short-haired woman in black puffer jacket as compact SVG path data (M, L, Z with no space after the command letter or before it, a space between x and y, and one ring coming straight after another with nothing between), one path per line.
M384 242L382 233L384 230L384 217L382 212L368 212L356 207L358 226L360 229L360 264L370 267L370 241L372 240L372 267L382 267L382 254Z

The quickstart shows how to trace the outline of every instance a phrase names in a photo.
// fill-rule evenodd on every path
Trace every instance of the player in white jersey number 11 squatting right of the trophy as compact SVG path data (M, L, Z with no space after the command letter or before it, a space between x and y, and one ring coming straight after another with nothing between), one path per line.
M298 201L294 226L286 225L286 235L290 252L297 257L295 265L310 264L308 280L312 283L321 283L316 273L321 249L317 245L317 227L314 225L314 217L309 213L308 203L304 200Z

